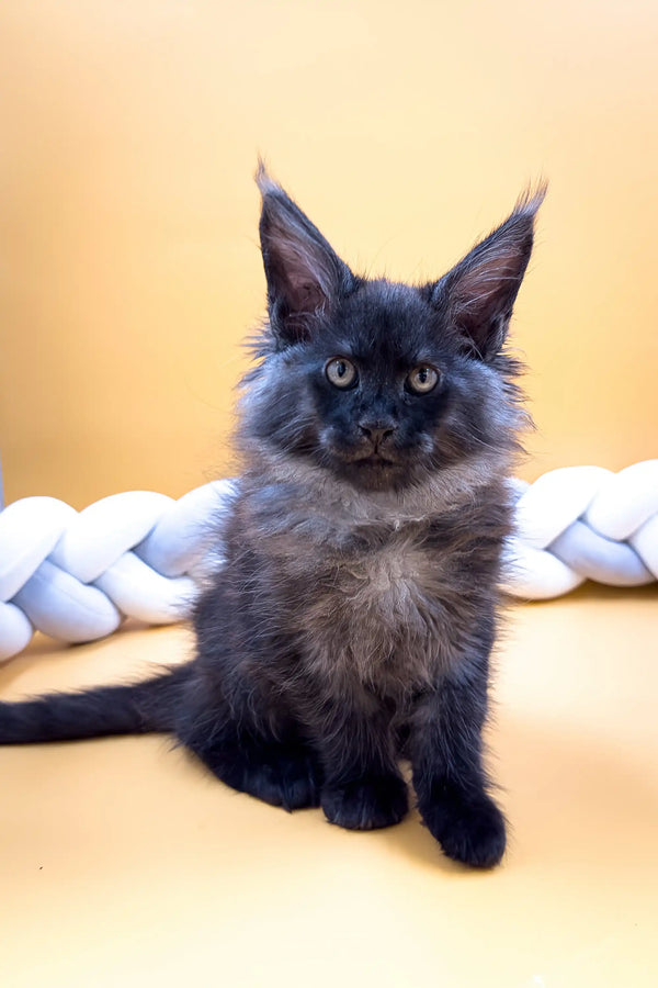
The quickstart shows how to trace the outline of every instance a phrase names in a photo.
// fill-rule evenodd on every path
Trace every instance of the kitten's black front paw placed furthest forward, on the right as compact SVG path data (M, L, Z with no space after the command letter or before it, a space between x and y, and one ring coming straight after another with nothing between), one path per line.
M475 798L442 794L436 802L419 808L447 857L475 868L500 863L506 845L504 817L485 793Z

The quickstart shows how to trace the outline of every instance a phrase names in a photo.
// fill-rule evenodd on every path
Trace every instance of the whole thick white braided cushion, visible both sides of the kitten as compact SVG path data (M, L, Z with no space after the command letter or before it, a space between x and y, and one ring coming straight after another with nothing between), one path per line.
M541 599L587 579L613 586L658 579L658 460L620 473L566 467L512 485L508 594ZM79 642L110 635L124 617L184 618L209 523L234 492L231 481L214 481L179 501L133 491L80 513L54 497L9 505L0 512L0 661L22 651L35 628Z

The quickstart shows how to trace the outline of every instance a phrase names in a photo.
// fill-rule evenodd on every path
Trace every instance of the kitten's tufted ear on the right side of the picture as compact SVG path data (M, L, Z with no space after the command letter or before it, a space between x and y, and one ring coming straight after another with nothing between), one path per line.
M447 313L467 352L499 352L532 251L534 218L546 194L526 192L511 215L431 287L432 304Z

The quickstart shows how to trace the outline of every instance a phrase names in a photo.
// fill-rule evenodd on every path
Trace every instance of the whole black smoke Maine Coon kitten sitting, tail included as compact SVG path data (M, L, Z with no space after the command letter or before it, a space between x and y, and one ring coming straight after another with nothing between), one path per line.
M481 731L523 417L503 345L543 193L417 288L353 274L262 168L258 182L269 319L196 655L1 704L0 741L170 731L229 786L359 830L407 812L405 755L445 854L495 865Z

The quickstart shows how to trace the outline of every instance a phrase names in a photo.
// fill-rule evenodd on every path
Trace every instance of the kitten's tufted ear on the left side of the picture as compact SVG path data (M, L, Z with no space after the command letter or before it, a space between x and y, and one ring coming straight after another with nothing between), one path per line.
M291 344L307 339L313 316L330 312L353 276L319 229L266 173L256 176L262 195L261 251L272 330Z

